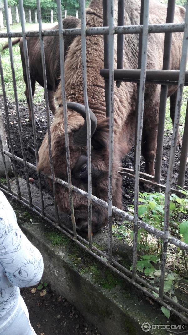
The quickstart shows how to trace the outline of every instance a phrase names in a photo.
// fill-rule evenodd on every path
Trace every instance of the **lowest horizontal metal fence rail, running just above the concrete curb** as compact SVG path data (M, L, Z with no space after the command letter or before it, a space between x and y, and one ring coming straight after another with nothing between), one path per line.
M104 258L101 258L100 256L98 256L95 252L91 251L89 248L87 248L86 246L83 245L86 244L87 246L89 245L88 241L84 240L83 238L81 238L79 235L77 236L79 240L81 240L81 242L78 241L78 239L75 239L72 235L70 235L69 232L67 232L67 228L63 229L62 227L56 225L52 220L50 220L49 218L47 218L45 215L41 214L41 212L37 211L36 209L34 209L33 207L30 207L29 204L26 204L24 201L20 200L19 198L17 198L15 195L10 194L7 190L5 190L5 186L2 185L2 187L0 187L0 190L2 192L5 192L7 195L11 196L13 199L19 201L22 205L26 206L27 208L31 209L32 211L34 211L36 214L38 214L39 216L41 216L43 219L45 219L46 221L48 221L50 224L52 224L55 228L57 228L58 230L60 230L61 232L63 232L67 237L69 237L73 242L77 243L79 245L80 248L84 249L86 252L88 252L90 255L92 255L93 257L95 257L98 261L100 261L101 263L103 263L105 266L109 267L113 272L115 272L116 274L120 275L123 279L127 280L130 284L134 285L136 288L138 288L139 290L142 290L146 295L148 295L149 297L151 297L153 300L155 300L156 302L158 302L160 305L168 308L173 314L177 315L183 322L185 322L186 324L188 323L188 319L182 315L181 313L177 312L176 310L174 310L171 306L169 306L168 304L166 304L165 302L163 302L160 298L158 298L157 296L155 296L154 294L152 294L151 292L149 292L146 288L140 286L137 282L132 281L129 277L127 277L125 274L123 274L122 272L120 272L117 268L115 268L113 265L111 265L109 262L105 261ZM70 231L71 234L73 233L72 231ZM97 249L96 247L93 246L93 250L98 252L99 255L102 255L103 257L106 257L107 259L109 258L108 255L106 255L105 253L101 252L99 249ZM131 271L127 270L126 268L124 268L122 265L120 265L119 263L117 263L114 259L112 260L112 264L115 264L116 266L118 266L119 268L121 268L121 270L123 270L124 272L126 272L128 275L131 275ZM142 278L140 278L138 275L136 275L136 280L139 281L140 283L142 283L143 285L145 285L146 287L148 287L149 289L152 289L153 291L156 292L156 288L151 286L150 284L148 284L147 282L145 282ZM156 292L158 293L158 291ZM180 308L181 310L185 311L187 313L187 309L185 309L183 306L181 306L180 304L174 302L172 299L170 299L168 296L166 296L164 294L163 296L165 299L168 300L169 303L172 303L172 305Z

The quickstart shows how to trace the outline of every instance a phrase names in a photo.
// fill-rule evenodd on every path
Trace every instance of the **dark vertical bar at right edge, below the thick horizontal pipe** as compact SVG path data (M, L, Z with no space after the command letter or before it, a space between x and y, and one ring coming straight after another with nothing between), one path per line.
M183 132L183 142L181 148L181 156L180 156L180 167L178 173L178 182L177 185L183 188L185 181L185 172L187 165L187 155L188 155L188 102L187 102L187 110L185 116L185 126Z

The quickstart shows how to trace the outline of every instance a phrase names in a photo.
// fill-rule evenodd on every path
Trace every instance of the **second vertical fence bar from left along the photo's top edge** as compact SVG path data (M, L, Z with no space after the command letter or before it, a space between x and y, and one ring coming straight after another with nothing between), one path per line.
M32 127L33 127L33 139L34 139L34 147L35 147L35 158L36 158L36 163L38 164L37 133L36 133L36 124L35 124L34 110L33 110L33 95L32 95L32 88L31 88L31 77L30 77L30 69L29 69L29 58L28 58L28 50L27 50L27 41L26 41L26 37L25 37L25 22L24 22L24 13L23 13L23 0L19 0L19 9L20 9L20 19L21 19L21 27L22 27L23 50L24 50L25 65L26 65L25 68L26 68L26 75L27 75L27 85L28 85L28 92L29 92L29 102L30 102ZM38 171L37 171L37 177L38 177L38 186L39 186L40 201L41 201L41 210L42 210L42 214L44 215L44 200L43 200L43 194L42 194L40 172L38 172Z

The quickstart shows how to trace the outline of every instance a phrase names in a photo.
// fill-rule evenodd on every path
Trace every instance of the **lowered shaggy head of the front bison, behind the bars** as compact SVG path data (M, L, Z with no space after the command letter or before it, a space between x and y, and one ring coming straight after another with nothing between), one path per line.
M67 103L67 107L69 109L68 133L72 185L87 192L87 126L85 108L77 103ZM74 110L74 112L70 110ZM96 116L91 110L89 110L89 114L92 146L92 194L108 202L109 119L97 122ZM67 181L65 133L61 108L57 111L51 126L51 147L55 177ZM117 152L116 143L115 152ZM121 176L117 173L119 163L120 161L116 159L115 154L113 165L113 204L121 208ZM45 174L51 174L47 134L39 150L37 169ZM51 180L49 180L49 183L52 186ZM68 189L56 184L55 197L59 209L70 213ZM73 205L76 227L79 230L88 231L88 200L82 195L73 192ZM107 209L93 202L92 231L99 230L107 222Z

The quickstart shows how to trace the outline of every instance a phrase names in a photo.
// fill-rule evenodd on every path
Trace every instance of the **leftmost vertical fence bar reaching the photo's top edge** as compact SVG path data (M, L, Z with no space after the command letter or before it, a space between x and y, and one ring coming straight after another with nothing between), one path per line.
M4 8L5 8L5 18L6 18L7 34L8 34L8 46L9 46L9 53L10 53L12 82L13 82L13 88L14 88L16 114L17 114L17 120L18 120L18 130L19 130L19 135L20 135L20 144L21 144L22 157L23 157L23 162L24 162L23 166L24 166L24 171L25 171L25 178L26 178L26 185L27 185L29 203L30 203L30 206L32 207L33 204L32 204L32 198L31 198L30 185L29 185L29 177L28 177L27 164L26 164L26 156L25 156L25 149L24 149L24 142L23 142L22 127L21 127L21 122L20 122L20 111L19 111L18 95L17 95L17 88L16 88L16 78L15 78L15 70L14 70L14 58L13 58L13 52L12 52L12 41L11 41L11 37L10 37L8 5L7 5L6 0L4 0Z

